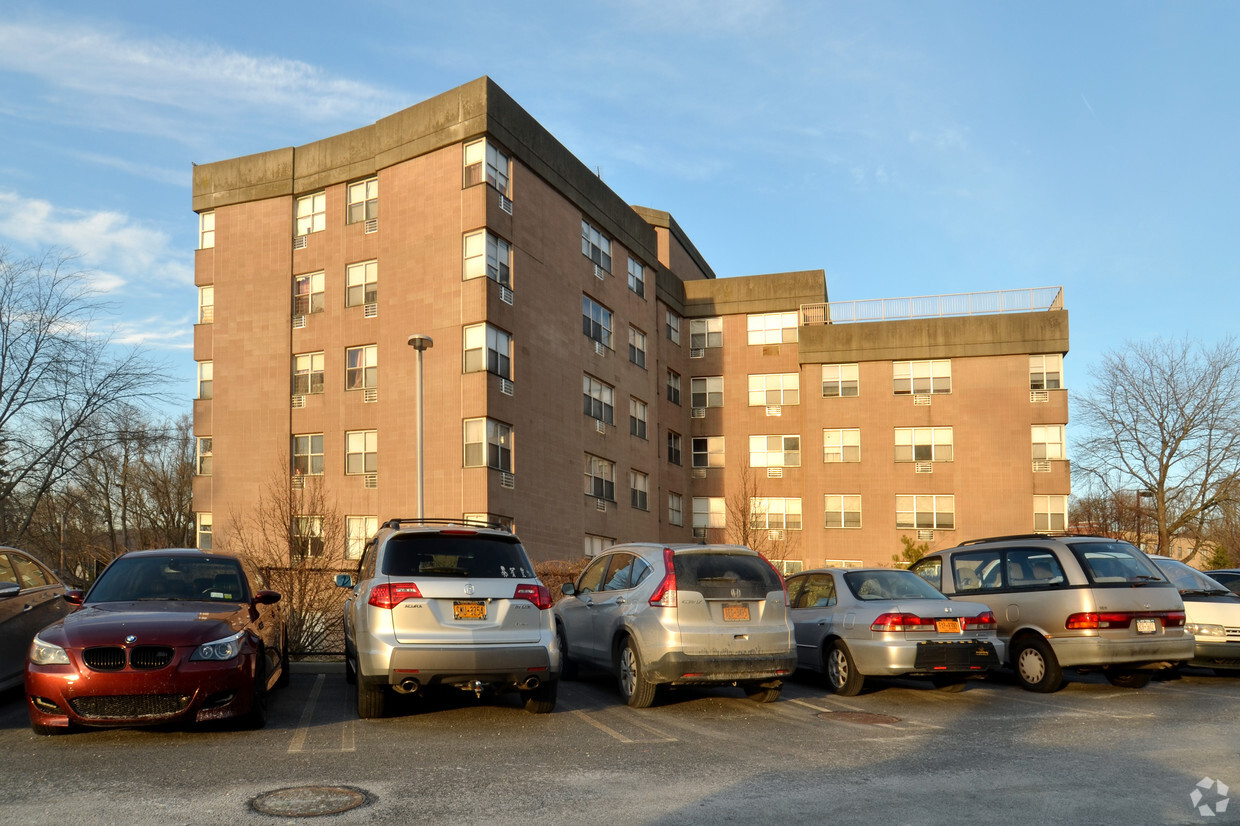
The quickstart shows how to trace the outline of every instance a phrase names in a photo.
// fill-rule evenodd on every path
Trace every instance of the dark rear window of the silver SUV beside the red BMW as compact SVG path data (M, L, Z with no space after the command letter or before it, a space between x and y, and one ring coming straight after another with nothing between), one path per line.
M516 537L397 533L383 551L388 577L512 577L531 579L533 566Z

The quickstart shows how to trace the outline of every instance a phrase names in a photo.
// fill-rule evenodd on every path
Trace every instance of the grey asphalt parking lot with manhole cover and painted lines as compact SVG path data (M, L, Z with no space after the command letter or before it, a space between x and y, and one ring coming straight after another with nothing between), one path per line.
M352 806L310 819L331 824L1238 822L1238 701L1240 678L1198 670L1137 691L1085 675L1034 695L1001 673L849 698L799 675L775 703L701 688L637 711L599 676L562 683L551 714L451 693L361 721L339 665L296 664L262 731L37 737L10 691L0 822L275 824L316 806Z

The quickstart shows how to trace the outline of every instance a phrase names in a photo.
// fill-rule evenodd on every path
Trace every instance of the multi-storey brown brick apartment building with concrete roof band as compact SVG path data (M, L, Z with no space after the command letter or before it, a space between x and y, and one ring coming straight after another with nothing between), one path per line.
M827 304L821 270L717 279L489 78L196 166L193 501L229 544L273 476L356 556L415 516L534 558L738 537L789 568L1063 528L1058 289Z

